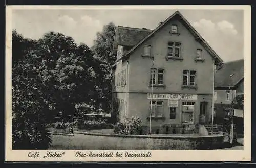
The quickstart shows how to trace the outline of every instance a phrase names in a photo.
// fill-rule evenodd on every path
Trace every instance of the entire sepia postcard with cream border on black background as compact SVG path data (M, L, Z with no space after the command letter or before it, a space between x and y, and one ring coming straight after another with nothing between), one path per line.
M245 154L250 7L197 8L10 7L10 152L149 161L155 150Z

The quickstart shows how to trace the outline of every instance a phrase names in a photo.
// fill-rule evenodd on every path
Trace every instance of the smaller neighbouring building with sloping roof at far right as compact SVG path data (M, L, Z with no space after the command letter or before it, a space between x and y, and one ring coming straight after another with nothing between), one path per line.
M214 85L215 123L223 123L230 115L232 100L244 94L244 60L225 62L216 66ZM234 110L234 116L243 118L243 110Z

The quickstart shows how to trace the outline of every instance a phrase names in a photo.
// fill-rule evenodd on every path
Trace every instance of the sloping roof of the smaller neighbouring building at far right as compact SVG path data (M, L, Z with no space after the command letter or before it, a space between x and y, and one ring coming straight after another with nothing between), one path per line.
M234 87L244 79L244 59L221 64L215 73L214 87Z

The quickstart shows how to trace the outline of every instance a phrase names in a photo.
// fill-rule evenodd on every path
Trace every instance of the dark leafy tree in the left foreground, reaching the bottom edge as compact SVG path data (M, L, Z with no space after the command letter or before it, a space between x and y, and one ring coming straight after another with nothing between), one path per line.
M15 49L14 49L15 50ZM12 69L12 149L47 149L50 107L41 91L40 57L29 52Z

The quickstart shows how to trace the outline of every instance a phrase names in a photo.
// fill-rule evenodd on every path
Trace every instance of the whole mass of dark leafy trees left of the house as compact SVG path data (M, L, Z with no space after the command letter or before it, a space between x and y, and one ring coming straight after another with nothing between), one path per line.
M46 124L59 112L66 120L76 104L110 100L114 24L97 33L93 50L62 33L31 40L13 30L12 36L13 149L47 149Z

